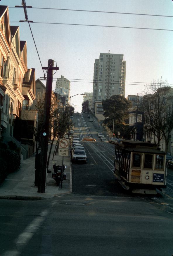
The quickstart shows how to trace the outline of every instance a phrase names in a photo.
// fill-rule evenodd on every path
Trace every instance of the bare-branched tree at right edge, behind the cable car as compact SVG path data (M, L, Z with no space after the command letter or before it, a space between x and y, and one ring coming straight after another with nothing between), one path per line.
M173 88L167 81L153 81L143 97L144 130L157 137L157 143L165 139L165 151L168 150L169 136L173 129Z

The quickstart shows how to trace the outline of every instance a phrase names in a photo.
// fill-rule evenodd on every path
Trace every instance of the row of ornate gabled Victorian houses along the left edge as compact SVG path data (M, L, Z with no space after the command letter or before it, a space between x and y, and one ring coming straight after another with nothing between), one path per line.
M0 137L16 143L28 157L23 135L15 136L14 127L17 119L36 119L37 113L23 113L35 99L35 69L27 68L27 44L20 41L19 27L9 24L8 6L0 6Z

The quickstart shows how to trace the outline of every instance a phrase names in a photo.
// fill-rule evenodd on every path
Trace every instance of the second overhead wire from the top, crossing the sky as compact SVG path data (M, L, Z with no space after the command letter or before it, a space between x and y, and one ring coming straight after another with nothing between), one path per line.
M10 23L19 23L19 22L24 22L24 21L10 21ZM138 28L138 27L124 27L124 26L106 26L106 25L74 24L74 23L56 23L56 22L32 22L32 23L35 23L35 24L72 25L72 26L106 27L106 28L123 28L123 29L149 29L149 30L173 31L173 29L152 29L152 28Z

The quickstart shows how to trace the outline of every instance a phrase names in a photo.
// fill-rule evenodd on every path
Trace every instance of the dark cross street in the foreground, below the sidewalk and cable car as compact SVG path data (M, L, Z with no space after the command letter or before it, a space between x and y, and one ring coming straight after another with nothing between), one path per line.
M140 198L1 200L1 209L3 256L172 255L172 215Z

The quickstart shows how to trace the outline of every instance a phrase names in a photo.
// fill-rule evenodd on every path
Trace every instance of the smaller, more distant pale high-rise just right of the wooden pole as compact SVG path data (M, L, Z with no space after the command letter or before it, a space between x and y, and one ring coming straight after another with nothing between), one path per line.
M67 96L67 103L70 101L70 81L61 75L61 78L57 78L55 92L60 96Z

